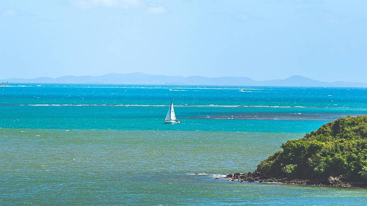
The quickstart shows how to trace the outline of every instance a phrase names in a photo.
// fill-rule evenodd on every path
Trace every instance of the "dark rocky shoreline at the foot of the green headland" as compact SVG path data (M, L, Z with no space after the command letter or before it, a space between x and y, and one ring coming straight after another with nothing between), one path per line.
M282 183L295 185L313 185L313 186L335 186L335 187L367 187L367 182L346 182L339 177L329 177L325 179L298 179L298 178L276 178L265 176L256 172L249 173L233 173L228 174L223 179L240 182L266 182L266 183Z

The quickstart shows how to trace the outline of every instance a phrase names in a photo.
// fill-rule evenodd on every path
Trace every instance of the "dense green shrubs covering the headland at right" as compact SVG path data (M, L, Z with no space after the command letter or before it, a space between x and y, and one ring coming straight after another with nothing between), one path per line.
M282 148L256 171L273 177L367 181L367 116L327 123L302 139L283 143Z

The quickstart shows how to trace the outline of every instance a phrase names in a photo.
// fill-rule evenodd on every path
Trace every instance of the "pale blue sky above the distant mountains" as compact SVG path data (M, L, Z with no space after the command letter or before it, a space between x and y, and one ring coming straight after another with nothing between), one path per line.
M365 0L2 0L0 78L367 82Z

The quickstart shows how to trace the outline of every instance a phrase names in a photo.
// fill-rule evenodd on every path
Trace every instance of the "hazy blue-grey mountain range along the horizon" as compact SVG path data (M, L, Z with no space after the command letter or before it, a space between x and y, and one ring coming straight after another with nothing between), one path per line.
M94 83L94 84L170 84L170 85L242 85L242 86L322 86L322 87L367 87L367 83L334 81L324 82L304 76L291 76L286 79L256 81L248 77L204 77L204 76L165 76L140 72L102 76L62 76L57 78L39 77L33 79L9 78L0 82L11 83Z

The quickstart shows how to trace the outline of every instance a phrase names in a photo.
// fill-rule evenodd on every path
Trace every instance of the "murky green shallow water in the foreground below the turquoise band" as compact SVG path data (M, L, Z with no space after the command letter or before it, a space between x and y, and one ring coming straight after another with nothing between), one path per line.
M0 204L363 205L367 189L240 183L295 133L0 130ZM192 175L193 173L203 173Z

